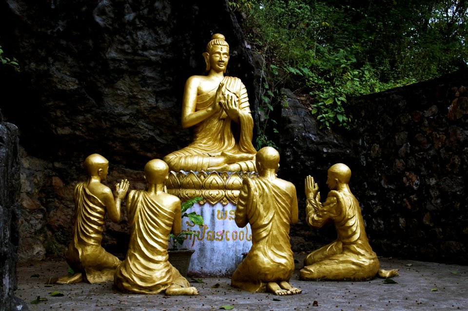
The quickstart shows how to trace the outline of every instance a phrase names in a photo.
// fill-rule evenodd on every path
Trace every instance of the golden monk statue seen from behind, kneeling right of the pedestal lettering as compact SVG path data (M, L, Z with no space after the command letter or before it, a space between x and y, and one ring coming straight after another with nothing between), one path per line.
M250 223L252 248L231 278L231 285L249 292L292 295L289 279L294 272L290 225L298 220L296 189L276 177L279 153L264 147L255 157L258 177L245 178L235 210L235 223Z

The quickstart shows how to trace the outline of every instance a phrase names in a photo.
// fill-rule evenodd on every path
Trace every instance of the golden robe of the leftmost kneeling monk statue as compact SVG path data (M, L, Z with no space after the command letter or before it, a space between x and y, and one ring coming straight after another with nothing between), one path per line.
M75 225L73 240L68 245L65 258L75 272L83 272L90 283L112 280L120 260L101 247L105 205L78 183L73 193L75 199Z

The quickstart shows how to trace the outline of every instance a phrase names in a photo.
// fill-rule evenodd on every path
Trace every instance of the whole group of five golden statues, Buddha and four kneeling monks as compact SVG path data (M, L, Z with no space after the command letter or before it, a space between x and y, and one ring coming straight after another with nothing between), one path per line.
M122 292L196 295L195 287L168 260L169 234L181 232L181 200L164 187L169 170L257 172L243 179L236 203L235 223L240 228L250 224L252 248L235 269L231 285L276 295L302 292L290 284L294 259L289 233L298 221L295 186L277 178L279 153L274 148L257 152L252 145L246 88L240 79L224 76L229 60L224 36L213 35L203 56L208 75L188 78L183 95L182 126L194 127L193 142L166 155L164 161L153 159L145 165L145 191L131 190L127 196L127 180L112 191L101 183L109 162L98 154L85 159L87 180L75 187L73 239L65 253L76 273L60 277L57 283L112 280ZM396 273L379 271L359 203L349 188L350 177L348 166L331 166L327 179L331 191L325 203L320 202L313 178L306 178L307 224L320 228L331 220L338 237L306 256L299 272L302 280L365 280ZM101 247L101 240L105 214L118 222L125 197L130 242L120 261Z

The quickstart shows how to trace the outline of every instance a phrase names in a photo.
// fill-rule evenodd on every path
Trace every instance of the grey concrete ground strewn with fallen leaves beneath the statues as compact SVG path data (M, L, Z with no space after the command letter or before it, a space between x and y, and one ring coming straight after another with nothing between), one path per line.
M243 292L231 287L228 277L205 277L197 296L122 294L112 282L48 285L67 273L65 260L20 265L15 295L26 302L22 310L468 310L468 266L380 258L382 269L399 269L400 275L364 282L299 281L303 255L297 254L291 285L302 289L292 296ZM62 296L51 296L57 291ZM45 298L31 304L37 298Z

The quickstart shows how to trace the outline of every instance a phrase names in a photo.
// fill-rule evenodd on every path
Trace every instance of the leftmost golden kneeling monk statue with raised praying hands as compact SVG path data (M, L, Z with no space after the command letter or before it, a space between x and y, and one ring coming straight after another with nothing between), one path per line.
M101 247L102 230L106 212L112 221L120 221L120 202L127 194L129 183L127 179L117 183L114 194L101 183L109 169L109 162L102 155L89 155L84 160L84 169L88 178L75 186L73 240L65 252L68 265L76 273L60 277L58 284L78 283L83 279L89 283L110 281L120 263Z

